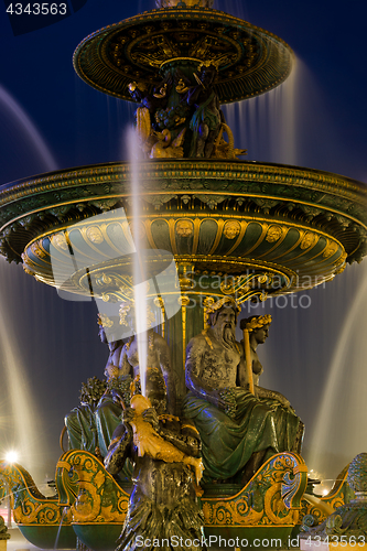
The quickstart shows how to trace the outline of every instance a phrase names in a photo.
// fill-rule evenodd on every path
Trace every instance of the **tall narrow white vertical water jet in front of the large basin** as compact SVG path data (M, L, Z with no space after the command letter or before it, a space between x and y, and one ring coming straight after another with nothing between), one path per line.
M136 246L136 260L133 266L133 292L134 292L134 318L136 318L136 338L138 344L139 372L141 381L141 392L145 396L145 372L148 355L148 324L147 324L147 273L144 251L142 250L139 238L140 216L141 216L141 185L139 181L139 144L137 132L131 128L128 134L129 159L131 169L132 187L132 233Z

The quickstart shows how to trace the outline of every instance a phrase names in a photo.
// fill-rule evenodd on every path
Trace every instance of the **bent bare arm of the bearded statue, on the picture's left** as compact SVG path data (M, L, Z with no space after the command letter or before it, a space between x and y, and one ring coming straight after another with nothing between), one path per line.
M185 365L186 387L197 398L203 398L217 408L226 409L226 399L220 396L220 391L203 381L206 346L205 339L201 336L192 338L187 345Z

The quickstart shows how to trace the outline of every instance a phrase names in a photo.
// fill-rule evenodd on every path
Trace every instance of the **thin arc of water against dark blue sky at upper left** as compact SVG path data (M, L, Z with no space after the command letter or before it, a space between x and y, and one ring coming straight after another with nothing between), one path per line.
M36 158L40 160L40 171L55 171L57 170L57 163L54 160L52 153L39 130L26 115L26 112L22 109L22 107L18 104L18 101L9 94L0 85L0 114L2 117L10 117L11 127L10 132L14 126L20 128L21 138L26 139L26 144L29 150L32 151L33 155L36 154ZM9 133L7 132L7 137ZM18 140L19 142L19 140ZM22 150L22 158L25 152ZM32 156L33 156L32 155Z

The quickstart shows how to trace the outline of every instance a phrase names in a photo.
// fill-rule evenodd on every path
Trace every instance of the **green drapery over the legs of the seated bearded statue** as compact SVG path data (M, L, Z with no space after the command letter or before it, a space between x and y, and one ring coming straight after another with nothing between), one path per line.
M192 392L184 399L183 415L193 420L201 434L206 480L235 476L253 452L267 450L268 460L294 451L301 421L291 409L240 388L231 390L236 393L235 419Z

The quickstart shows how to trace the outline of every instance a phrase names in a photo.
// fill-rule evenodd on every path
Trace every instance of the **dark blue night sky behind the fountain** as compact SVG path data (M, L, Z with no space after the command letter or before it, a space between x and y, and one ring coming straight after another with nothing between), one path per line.
M367 182L365 0L217 0L215 7L282 37L298 58L294 105L285 84L237 108L236 147L248 149L248 160ZM154 8L153 0L87 0L65 20L15 36L1 8L0 183L126 160L133 105L88 87L74 73L72 55L86 35ZM309 307L294 298L259 312L273 315L260 349L261 385L290 399L306 425L306 463L327 478L367 447L366 277L364 263L348 267L307 293L302 304ZM63 417L78 404L82 381L102 377L107 348L98 341L97 309L62 300L2 258L0 278L0 450L22 450L20 463L32 474L39 467L41 478L53 477ZM36 430L32 445L21 446L25 418Z

